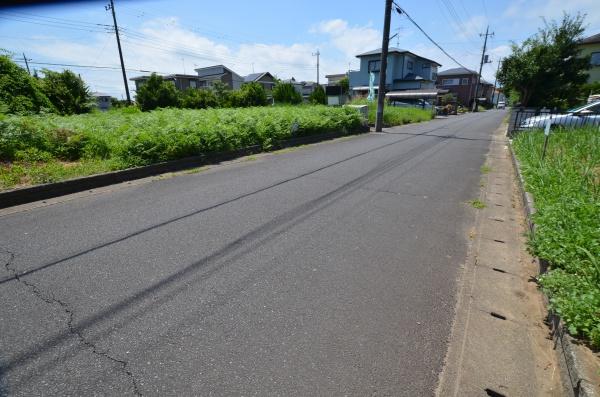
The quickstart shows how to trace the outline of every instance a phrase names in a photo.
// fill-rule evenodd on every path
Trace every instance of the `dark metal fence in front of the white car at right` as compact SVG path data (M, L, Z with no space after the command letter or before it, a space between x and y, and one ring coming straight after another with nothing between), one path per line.
M600 127L600 112L569 113L548 109L513 108L508 123L508 133L551 127Z

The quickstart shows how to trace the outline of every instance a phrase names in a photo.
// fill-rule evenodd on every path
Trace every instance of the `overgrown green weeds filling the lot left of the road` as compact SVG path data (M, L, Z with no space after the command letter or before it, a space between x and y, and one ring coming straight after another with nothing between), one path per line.
M1 115L0 115L1 116ZM362 128L350 108L118 109L0 118L0 189Z

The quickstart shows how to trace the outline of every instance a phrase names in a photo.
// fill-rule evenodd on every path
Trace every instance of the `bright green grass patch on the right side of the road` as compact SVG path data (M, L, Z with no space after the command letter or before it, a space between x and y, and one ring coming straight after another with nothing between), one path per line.
M541 159L542 131L514 140L526 188L534 196L533 253L551 263L541 277L569 331L600 347L600 131L552 133Z

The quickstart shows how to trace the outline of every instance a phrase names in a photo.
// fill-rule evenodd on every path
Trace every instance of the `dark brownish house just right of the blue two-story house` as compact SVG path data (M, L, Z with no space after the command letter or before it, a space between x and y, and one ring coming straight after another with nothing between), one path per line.
M437 87L454 94L459 104L472 106L477 86L477 73L471 69L454 68L438 73ZM491 102L494 85L484 79L479 81L477 95L479 101Z

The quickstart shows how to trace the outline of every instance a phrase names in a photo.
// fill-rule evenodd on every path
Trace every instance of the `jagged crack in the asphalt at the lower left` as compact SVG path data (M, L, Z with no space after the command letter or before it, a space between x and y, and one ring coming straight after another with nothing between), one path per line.
M14 267L12 267L12 264L16 258L16 254L14 252L8 251L6 249L1 249L1 251L5 252L6 254L9 255L9 258L6 261L6 263L4 264L4 267L6 268L6 271L14 277L14 280L16 280L18 283L24 285L25 287L27 287L27 289L29 289L33 293L33 295L35 297L37 297L38 299L40 299L41 301L43 301L49 305L58 305L67 314L67 317L68 317L67 328L68 328L69 332L71 334L73 334L74 336L76 336L82 345L91 349L93 354L101 356L107 360L110 360L110 361L120 365L122 371L131 380L133 393L136 396L142 396L142 393L139 388L138 380L136 379L133 372L131 372L131 370L129 369L129 363L125 360L120 360L116 357L111 356L106 351L100 351L94 343L87 340L85 338L85 336L83 336L83 333L77 328L77 326L75 326L73 324L75 313L69 307L69 305L64 301L55 298L54 296L48 297L46 294L42 293L42 291L38 288L37 285L21 278L21 276L19 275L19 272ZM52 295L52 294L50 294L50 295Z

